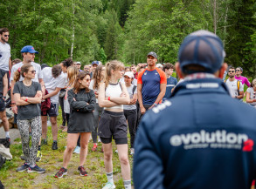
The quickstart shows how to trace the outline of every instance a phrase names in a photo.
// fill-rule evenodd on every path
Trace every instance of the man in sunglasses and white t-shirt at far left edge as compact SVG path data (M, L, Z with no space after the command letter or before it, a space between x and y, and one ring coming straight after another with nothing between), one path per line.
M10 60L10 44L8 44L10 34L7 28L0 29L0 70L3 70L7 73L8 78L8 87L9 87L9 71L11 69L11 60Z

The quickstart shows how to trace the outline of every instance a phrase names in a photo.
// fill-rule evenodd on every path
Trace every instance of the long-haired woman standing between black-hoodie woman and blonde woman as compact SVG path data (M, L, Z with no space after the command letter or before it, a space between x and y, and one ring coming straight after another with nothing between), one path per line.
M92 132L92 138L93 138L92 151L93 152L97 151L98 125L99 125L100 115L103 111L103 108L100 107L99 105L98 97L99 97L100 83L104 81L104 73L105 73L105 66L98 65L94 71L93 79L89 86L89 89L94 91L95 98L96 98L96 105L93 111L93 116L94 116L94 131ZM101 149L101 152L103 152L103 148Z

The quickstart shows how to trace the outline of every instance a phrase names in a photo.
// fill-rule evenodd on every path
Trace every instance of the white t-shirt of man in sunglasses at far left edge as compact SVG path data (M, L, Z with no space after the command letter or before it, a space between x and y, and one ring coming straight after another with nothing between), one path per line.
M9 71L10 44L0 42L0 69Z

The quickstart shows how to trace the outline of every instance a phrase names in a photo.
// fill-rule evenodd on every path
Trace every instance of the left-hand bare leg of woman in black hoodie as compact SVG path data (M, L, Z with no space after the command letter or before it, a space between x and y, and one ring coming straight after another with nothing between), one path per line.
M63 167L67 168L67 165L72 158L73 149L76 146L77 140L80 137L80 133L67 133L67 145L64 152Z

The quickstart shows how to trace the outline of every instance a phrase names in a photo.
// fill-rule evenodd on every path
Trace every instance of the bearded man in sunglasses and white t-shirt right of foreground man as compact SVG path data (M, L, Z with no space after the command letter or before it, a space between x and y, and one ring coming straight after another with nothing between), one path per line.
M235 68L230 67L228 70L229 78L226 79L225 84L228 86L232 98L242 99L244 98L244 85L235 78L235 75Z

